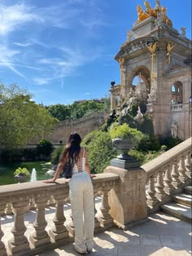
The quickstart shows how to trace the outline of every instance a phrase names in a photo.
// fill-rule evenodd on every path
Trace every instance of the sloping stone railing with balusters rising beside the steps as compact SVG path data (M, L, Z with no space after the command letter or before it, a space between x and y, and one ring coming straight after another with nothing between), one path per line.
M191 138L141 167L146 170L146 204L151 213L190 183Z

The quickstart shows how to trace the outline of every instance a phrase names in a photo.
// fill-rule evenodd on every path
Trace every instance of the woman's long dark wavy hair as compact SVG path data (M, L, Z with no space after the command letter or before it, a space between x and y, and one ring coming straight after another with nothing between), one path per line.
M68 143L63 150L62 159L68 154L68 163L73 167L78 160L81 151L81 136L77 132L72 132L68 138Z

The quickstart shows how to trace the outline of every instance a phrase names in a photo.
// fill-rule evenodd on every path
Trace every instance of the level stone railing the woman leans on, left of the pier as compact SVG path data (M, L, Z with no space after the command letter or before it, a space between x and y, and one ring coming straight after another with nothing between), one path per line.
M111 188L116 188L118 182L117 174L98 174L93 179L94 194L100 192L102 195L100 208L95 210L95 231L104 230L114 224L109 214L108 192ZM55 217L49 223L46 219L45 207L50 197L55 201ZM64 179L58 179L58 183L50 184L37 181L1 186L0 214L5 214L7 205L11 205L15 221L7 234L8 239L4 237L4 225L1 226L0 223L0 255L34 255L45 248L56 248L73 241L75 230L72 218L66 224L65 211L63 211L67 198L68 184ZM32 202L36 207L33 211L36 218L34 223L26 225L24 217Z

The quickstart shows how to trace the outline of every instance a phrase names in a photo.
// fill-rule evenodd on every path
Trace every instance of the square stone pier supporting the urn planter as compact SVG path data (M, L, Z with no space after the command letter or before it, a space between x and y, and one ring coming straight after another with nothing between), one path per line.
M129 223L136 222L147 216L146 207L146 172L142 168L123 169L107 166L104 173L114 173L120 176L116 188L109 192L110 214L115 223L124 229Z

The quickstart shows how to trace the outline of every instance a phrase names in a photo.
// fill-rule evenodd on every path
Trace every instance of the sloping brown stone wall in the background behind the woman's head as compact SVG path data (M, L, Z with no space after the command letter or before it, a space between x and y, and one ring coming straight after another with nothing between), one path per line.
M52 143L67 143L68 136L72 131L78 132L83 139L90 131L98 130L103 125L104 118L105 113L99 112L72 121L61 121L46 139L49 139Z

